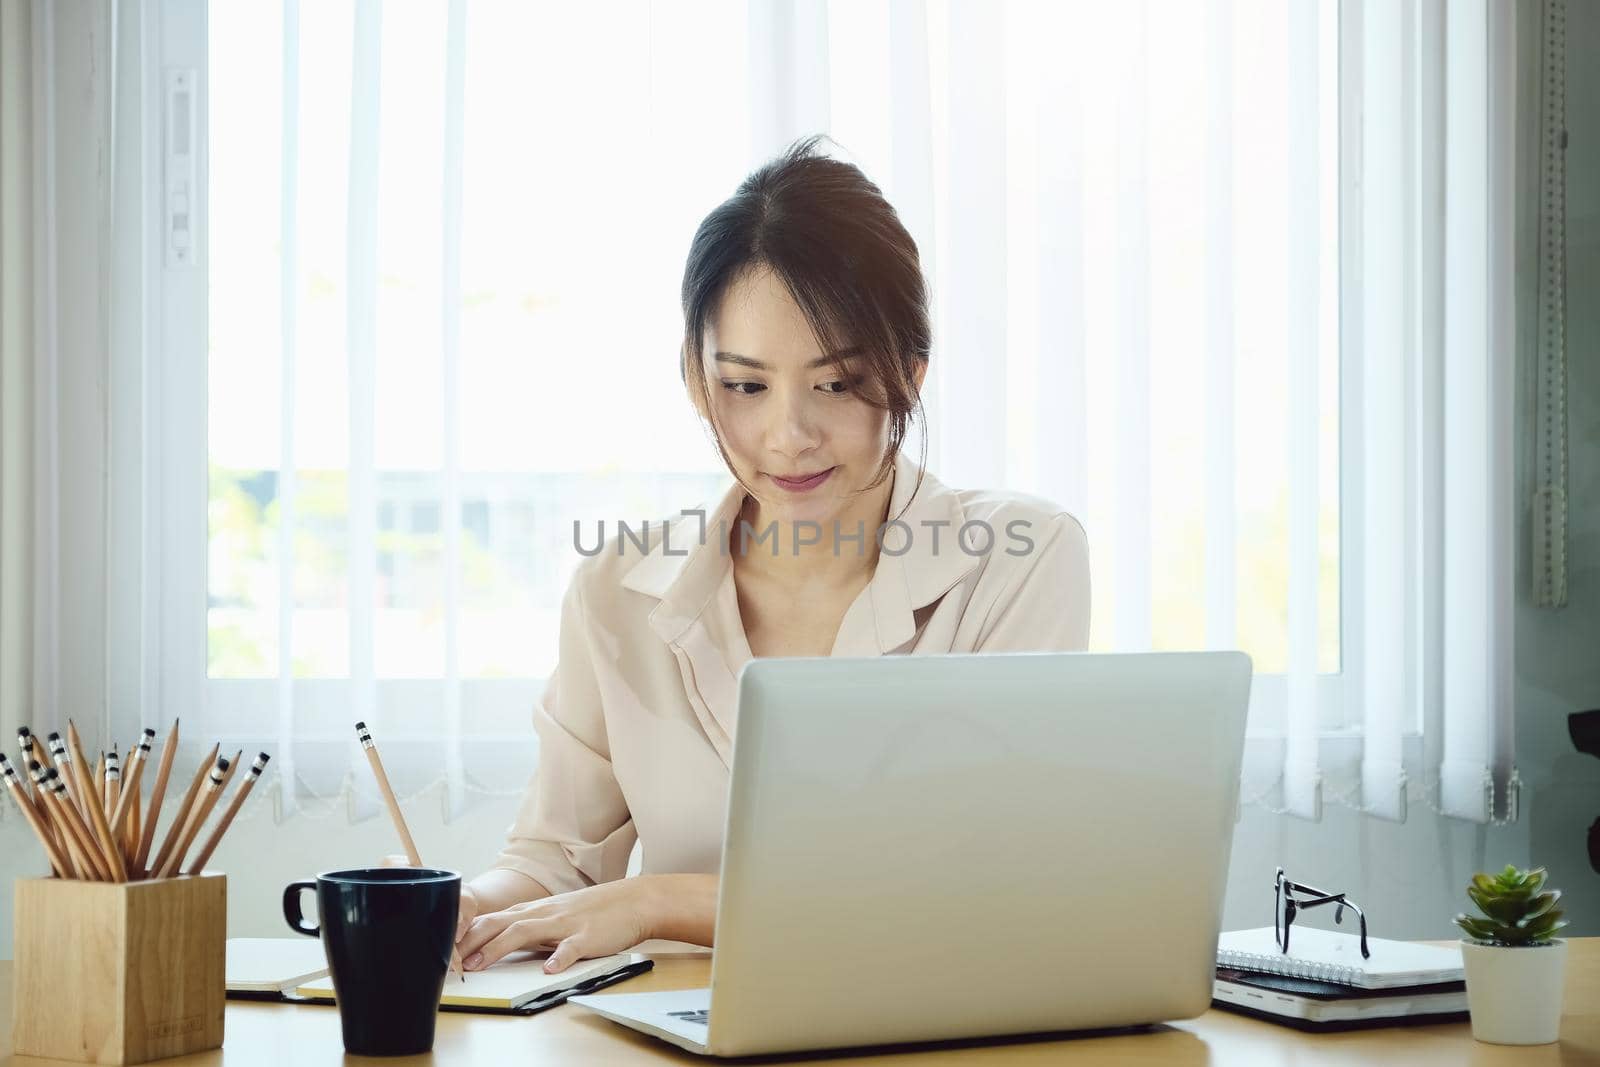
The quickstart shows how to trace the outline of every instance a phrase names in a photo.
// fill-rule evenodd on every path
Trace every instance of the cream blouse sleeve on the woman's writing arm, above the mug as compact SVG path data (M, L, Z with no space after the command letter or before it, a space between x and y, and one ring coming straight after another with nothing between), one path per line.
M562 600L558 664L533 709L539 766L494 861L552 894L624 877L637 840L611 771L579 581L581 573Z

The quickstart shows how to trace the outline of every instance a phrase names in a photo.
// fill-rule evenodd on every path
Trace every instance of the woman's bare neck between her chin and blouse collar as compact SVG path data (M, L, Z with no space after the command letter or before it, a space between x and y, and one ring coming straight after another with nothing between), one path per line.
M782 585L859 585L878 565L877 533L888 518L893 491L890 474L822 523L770 518L757 498L746 496L739 526L730 533L734 561L744 573Z

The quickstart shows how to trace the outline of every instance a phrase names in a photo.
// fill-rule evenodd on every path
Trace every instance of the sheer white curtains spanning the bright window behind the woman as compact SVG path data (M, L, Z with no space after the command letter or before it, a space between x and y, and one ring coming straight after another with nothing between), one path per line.
M128 474L142 611L107 593L102 616L102 662L142 633L115 731L181 713L274 750L285 805L365 803L365 718L402 792L515 790L571 522L718 485L674 362L688 238L829 133L933 283L931 469L1085 522L1093 646L1251 653L1246 801L1506 817L1512 53L1491 18L130 8L120 62L197 70L203 152L192 262L158 197L117 259L155 386ZM162 90L125 125L170 170L178 98L139 85ZM118 190L170 178L128 170Z

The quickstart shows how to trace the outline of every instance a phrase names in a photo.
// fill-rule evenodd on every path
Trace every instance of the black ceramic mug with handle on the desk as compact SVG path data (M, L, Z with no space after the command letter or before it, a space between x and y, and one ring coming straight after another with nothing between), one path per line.
M304 889L317 891L320 926L301 912ZM290 928L322 936L347 1053L406 1056L434 1048L459 905L461 875L427 867L330 870L283 889Z

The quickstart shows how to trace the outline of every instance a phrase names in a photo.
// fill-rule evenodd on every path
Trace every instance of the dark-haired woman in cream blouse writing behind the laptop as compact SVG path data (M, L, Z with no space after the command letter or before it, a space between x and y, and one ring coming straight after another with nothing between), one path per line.
M736 483L648 550L618 537L578 568L534 709L539 773L461 894L469 971L518 949L552 947L555 973L650 937L712 944L752 656L1088 641L1077 522L955 493L901 454L928 301L915 243L859 170L813 138L750 174L694 235L683 315L685 387ZM635 841L643 872L624 877Z

